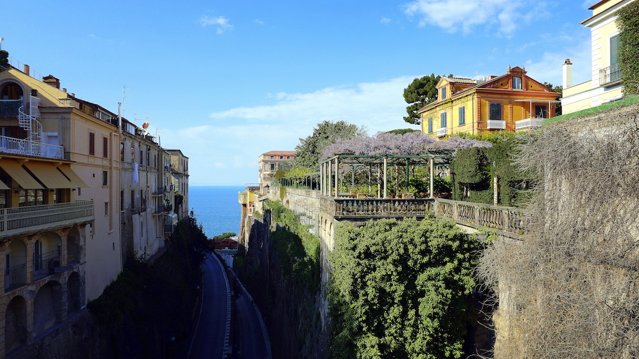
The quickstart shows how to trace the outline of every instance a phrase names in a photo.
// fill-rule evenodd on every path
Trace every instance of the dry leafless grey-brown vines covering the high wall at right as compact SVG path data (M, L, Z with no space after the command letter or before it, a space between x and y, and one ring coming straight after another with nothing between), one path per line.
M537 177L523 240L495 240L495 358L639 358L639 106L544 126L516 163Z

